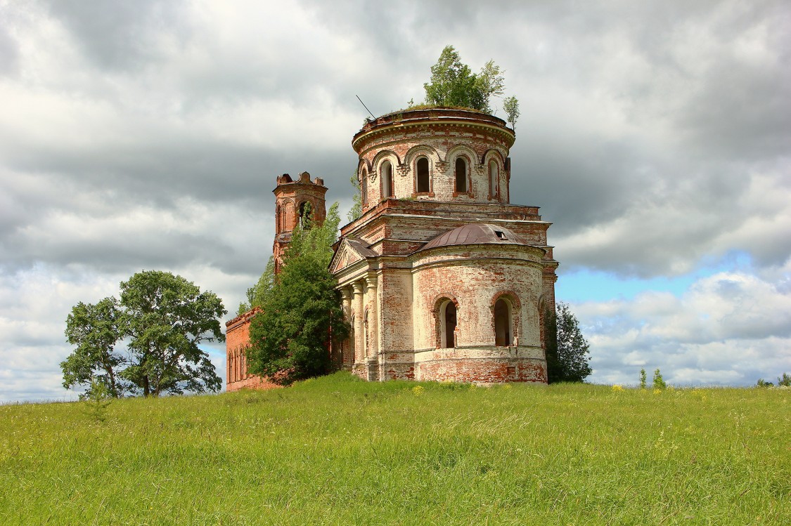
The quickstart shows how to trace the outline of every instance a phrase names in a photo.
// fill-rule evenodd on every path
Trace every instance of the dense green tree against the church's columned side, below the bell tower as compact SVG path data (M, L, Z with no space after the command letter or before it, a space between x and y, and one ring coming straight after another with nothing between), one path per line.
M349 330L337 282L327 269L339 223L336 203L324 224L297 227L281 272L271 281L264 272L259 280L264 284L256 287L251 304L262 310L250 323L248 372L289 385L330 370L329 338L343 338Z

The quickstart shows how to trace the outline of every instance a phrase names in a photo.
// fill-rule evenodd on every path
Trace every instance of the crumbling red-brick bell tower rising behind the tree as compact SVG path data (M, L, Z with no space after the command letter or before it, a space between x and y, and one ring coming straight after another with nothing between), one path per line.
M297 181L290 175L278 176L278 186L274 193L274 272L277 274L282 269L282 257L291 242L291 233L297 225L303 228L310 224L324 224L327 217L327 205L324 194L327 186L320 177L311 180L310 174L303 171Z

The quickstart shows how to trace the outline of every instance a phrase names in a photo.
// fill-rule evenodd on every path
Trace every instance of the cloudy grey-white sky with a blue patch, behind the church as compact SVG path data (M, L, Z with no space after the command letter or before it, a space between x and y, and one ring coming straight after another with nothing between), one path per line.
M512 201L554 223L590 380L791 372L791 6L495 3L0 0L0 401L74 398L66 315L141 269L235 311L275 176L349 209L355 95L422 100L446 44L520 100Z

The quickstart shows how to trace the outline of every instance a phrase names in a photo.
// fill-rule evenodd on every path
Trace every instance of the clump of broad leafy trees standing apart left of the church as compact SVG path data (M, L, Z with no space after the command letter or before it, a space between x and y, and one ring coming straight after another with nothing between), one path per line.
M199 344L225 340L221 299L170 272L138 272L120 287L120 301L72 308L66 340L77 348L60 364L64 387L86 385L88 396L97 381L111 396L218 391Z

